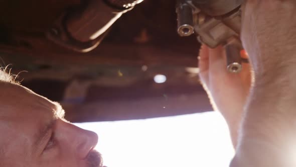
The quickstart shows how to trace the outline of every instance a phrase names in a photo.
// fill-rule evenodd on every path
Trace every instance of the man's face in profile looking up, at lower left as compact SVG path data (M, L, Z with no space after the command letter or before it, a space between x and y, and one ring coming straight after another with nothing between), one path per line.
M98 167L98 137L63 119L59 104L0 83L0 166Z

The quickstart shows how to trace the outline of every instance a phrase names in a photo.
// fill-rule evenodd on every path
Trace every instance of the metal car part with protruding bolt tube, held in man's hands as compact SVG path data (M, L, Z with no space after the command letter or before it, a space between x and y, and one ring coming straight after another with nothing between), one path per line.
M181 7L190 7L194 32L199 42L206 44L211 48L218 45L224 45L227 49L227 68L230 72L239 72L241 70L241 60L238 50L242 48L241 42L237 40L235 46L233 39L239 39L241 28L241 11L240 5L242 0L183 0L177 3L177 14L183 12L183 15L189 15L190 10L179 10ZM182 15L182 14L178 14ZM178 23L191 23L184 17L178 17ZM183 19L183 20L180 20ZM178 29L182 28L182 24L178 24ZM193 34L193 33L191 33ZM190 34L190 35L191 35ZM180 34L182 35L182 32ZM237 57L239 56L239 57Z

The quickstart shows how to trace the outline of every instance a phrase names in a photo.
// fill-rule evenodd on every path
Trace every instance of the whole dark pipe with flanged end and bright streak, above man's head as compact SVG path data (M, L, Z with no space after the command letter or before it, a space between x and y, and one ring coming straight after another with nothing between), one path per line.
M46 35L48 39L68 49L88 52L100 44L106 31L123 13L131 10L139 2L85 1L79 8L65 12ZM127 3L127 7L114 7L122 3Z

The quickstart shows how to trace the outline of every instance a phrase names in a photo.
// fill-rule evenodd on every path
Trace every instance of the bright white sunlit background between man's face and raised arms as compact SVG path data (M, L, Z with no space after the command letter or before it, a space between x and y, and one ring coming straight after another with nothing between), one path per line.
M99 135L108 167L226 167L234 155L218 112L76 125Z

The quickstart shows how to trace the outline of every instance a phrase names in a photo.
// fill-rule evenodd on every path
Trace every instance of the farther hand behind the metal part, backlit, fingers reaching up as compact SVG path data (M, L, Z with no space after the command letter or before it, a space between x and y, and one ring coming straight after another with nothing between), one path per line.
M200 50L199 76L202 85L214 110L220 111L225 118L234 147L251 83L250 65L242 65L240 73L230 73L226 68L226 54L222 46L211 49L203 45Z

